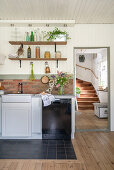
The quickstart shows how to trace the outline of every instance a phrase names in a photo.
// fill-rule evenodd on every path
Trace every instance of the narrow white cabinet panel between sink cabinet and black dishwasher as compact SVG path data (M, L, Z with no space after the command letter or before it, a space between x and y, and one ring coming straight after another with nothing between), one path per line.
M32 97L32 133L42 133L41 97Z

